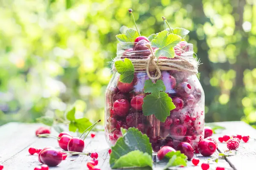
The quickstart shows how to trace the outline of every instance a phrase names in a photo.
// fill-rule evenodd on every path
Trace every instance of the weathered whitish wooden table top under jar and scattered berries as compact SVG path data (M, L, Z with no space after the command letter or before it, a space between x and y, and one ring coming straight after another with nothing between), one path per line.
M219 134L214 134L216 139L219 136L227 135L250 135L256 138L256 130L245 124L244 122L218 122L216 125L226 127ZM38 138L35 136L35 129L40 124L24 124L24 123L8 123L0 127L0 163L4 165L3 170L33 170L34 167L40 165L38 156L29 155L29 147L44 148L53 146L58 149L56 139ZM101 170L111 170L109 166L109 146L105 140L104 132L97 132L96 136L91 139L87 137L85 140L84 151L99 153L99 167ZM227 150L225 143L218 143L218 151L223 153ZM196 154L195 157L203 161L207 161L209 157ZM51 167L50 170L87 170L86 163L90 160L89 156L68 156L57 167ZM201 164L200 163L200 164ZM241 141L235 156L220 159L217 164L210 164L210 170L215 170L217 166L225 167L225 170L256 170L256 142L250 139L248 143ZM145 168L146 170L148 168ZM154 164L154 170L162 170L163 167ZM200 166L193 166L192 162L188 162L187 167L172 168L174 170L201 170Z

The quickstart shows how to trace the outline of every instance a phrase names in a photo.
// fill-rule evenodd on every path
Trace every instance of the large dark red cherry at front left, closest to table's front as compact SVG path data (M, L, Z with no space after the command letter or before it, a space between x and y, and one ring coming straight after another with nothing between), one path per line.
M62 153L56 149L45 149L41 152L40 159L44 164L55 167L62 161Z

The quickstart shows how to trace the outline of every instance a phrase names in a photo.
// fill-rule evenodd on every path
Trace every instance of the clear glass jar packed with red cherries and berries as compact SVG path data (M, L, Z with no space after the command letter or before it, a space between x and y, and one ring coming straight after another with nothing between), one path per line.
M186 58L190 62L196 62L193 53L192 44L180 42L175 47L175 56ZM148 48L140 42L117 45L116 60L148 59L149 55ZM154 75L154 72L151 74ZM149 137L154 152L164 145L176 149L180 142L188 142L195 149L199 140L204 139L204 91L198 77L187 71L161 71L160 79L166 86L165 92L176 106L165 122L160 122L154 115L143 115L143 98L147 95L143 88L147 79L145 70L135 72L130 84L119 82L119 74L113 73L106 90L105 103L105 134L109 145L113 146L122 136L121 127L137 127Z

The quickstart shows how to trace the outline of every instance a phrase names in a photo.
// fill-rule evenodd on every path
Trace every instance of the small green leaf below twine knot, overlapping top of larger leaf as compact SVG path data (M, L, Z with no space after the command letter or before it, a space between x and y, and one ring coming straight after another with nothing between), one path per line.
M148 79L145 81L144 92L145 93L158 93L160 91L165 91L166 87L163 83L163 80L157 80L156 83L153 83L152 80Z

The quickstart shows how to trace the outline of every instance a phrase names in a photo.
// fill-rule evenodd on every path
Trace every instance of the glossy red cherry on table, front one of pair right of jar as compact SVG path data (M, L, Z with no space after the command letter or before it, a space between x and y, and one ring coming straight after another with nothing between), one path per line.
M211 156L216 148L216 144L210 140L202 140L198 143L198 151L203 156Z

